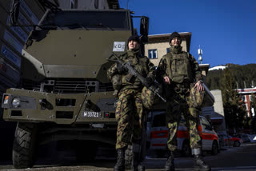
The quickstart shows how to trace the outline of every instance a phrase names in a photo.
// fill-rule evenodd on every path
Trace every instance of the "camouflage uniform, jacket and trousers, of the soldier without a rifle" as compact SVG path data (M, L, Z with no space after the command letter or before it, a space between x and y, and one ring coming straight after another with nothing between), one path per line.
M158 78L167 76L171 80L170 85L165 84L168 149L170 151L177 149L177 131L182 113L190 129L191 149L201 148L202 141L198 134L198 108L194 107L190 98L190 89L194 86L194 82L202 80L198 62L191 54L182 51L182 46L171 46L170 53L164 55L159 62L157 73Z

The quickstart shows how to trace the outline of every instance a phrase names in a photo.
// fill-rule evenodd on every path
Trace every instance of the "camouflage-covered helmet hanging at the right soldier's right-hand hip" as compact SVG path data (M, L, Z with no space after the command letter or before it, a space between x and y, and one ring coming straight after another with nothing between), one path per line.
M194 108L201 108L204 102L205 90L197 91L196 88L190 89L190 105Z

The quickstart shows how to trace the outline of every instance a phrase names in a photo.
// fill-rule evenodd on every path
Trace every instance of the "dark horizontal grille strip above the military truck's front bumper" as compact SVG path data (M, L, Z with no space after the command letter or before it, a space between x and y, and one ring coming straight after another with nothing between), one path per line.
M88 80L45 80L38 82L23 81L24 89L44 91L48 93L86 93L112 91L112 84L102 84L98 81Z

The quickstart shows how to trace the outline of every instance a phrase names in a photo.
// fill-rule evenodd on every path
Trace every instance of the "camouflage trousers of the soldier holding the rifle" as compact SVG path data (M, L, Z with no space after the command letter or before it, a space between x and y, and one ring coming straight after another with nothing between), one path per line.
M118 94L115 117L118 121L116 149L140 141L145 124L142 93L136 89L125 89Z

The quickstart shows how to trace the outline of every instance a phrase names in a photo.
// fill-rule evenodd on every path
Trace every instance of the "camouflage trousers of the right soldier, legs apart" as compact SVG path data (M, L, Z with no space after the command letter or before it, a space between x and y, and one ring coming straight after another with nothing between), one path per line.
M190 93L173 93L170 100L166 102L166 125L169 129L167 147L171 151L177 149L177 131L182 114L186 120L186 126L190 133L191 149L202 147L202 139L198 133L200 123L198 109L191 107Z

